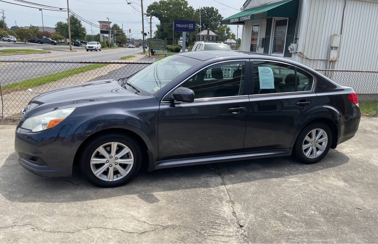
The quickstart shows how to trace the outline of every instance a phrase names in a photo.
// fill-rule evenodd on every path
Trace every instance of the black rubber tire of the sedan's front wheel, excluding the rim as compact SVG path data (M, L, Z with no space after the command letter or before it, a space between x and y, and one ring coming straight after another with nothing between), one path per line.
M134 162L133 166L127 175L116 181L105 181L98 178L92 171L90 160L92 154L98 149L99 146L109 143L109 142L118 142L129 147L133 154ZM134 176L138 173L142 165L142 151L138 142L127 135L119 135L115 133L110 133L106 135L100 135L99 137L93 138L88 142L81 152L79 167L82 175L92 184L98 187L117 187L122 186L132 180Z

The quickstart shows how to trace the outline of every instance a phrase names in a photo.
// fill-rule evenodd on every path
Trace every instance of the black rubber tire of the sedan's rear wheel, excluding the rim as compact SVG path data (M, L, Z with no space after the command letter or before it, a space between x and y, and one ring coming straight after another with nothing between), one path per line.
M306 155L304 154L304 152L302 150L302 145L303 145L303 142L304 142L307 134L310 133L311 130L313 130L313 129L324 130L325 133L327 134L328 140L327 140L327 145L325 146L325 150L321 153L321 155L319 155L316 158L308 158L308 157L306 157ZM297 160L301 161L304 164L317 163L320 160L322 160L325 157L325 155L327 155L328 151L330 150L331 144L332 144L332 131L331 131L330 127L327 124L324 124L324 123L311 123L311 124L307 125L301 131L301 133L299 133L297 140L294 144L292 154L293 154L294 158L296 158Z

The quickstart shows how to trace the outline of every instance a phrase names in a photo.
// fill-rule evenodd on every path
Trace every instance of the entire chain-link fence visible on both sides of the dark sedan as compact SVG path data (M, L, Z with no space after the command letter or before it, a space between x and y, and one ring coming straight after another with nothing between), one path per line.
M20 111L42 92L93 80L128 77L150 63L0 60L0 120L17 123ZM225 70L225 72L228 70ZM378 111L378 71L318 69L331 80L352 86L364 115Z

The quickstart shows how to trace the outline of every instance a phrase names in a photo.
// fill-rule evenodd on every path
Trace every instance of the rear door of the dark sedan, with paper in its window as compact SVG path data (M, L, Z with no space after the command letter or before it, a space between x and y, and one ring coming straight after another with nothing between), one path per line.
M289 148L304 121L313 114L315 77L290 64L251 62L245 149Z

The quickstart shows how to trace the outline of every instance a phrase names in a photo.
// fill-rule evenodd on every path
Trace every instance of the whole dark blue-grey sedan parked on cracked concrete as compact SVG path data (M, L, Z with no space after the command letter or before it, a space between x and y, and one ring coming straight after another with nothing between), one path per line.
M130 77L57 88L33 98L15 132L20 164L100 187L149 171L288 156L305 164L352 138L356 92L284 58L184 52Z

